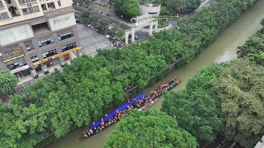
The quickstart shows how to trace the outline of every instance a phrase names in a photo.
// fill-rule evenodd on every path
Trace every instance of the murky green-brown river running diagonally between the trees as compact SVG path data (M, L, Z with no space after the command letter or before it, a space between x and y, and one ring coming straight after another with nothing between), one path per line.
M203 50L201 54L192 62L186 64L180 69L176 69L164 78L167 82L168 78L173 76L179 77L182 83L173 91L184 89L189 78L192 78L202 66L206 66L212 62L227 61L237 57L237 46L241 46L245 41L261 28L261 20L264 18L264 0L259 0L255 5L229 26L223 34L208 48ZM162 83L162 81L161 81ZM153 86L147 87L142 92L150 92L157 88L158 82ZM161 108L164 99L159 99L152 107ZM88 127L87 127L88 128ZM46 148L103 148L107 135L115 126L111 126L91 138L84 140L80 144L76 142L84 128L74 129L70 131L64 138L46 146Z

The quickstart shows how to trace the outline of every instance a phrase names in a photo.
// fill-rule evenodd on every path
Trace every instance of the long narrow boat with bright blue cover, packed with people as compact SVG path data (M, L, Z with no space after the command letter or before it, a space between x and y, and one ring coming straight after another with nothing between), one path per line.
M176 82L176 84L172 85L174 82ZM120 106L118 109L111 111L110 113L106 114L104 117L102 117L101 119L98 119L97 121L93 122L93 124L90 127L90 130L87 130L86 132L83 133L81 138L76 139L76 141L79 143L85 139L88 139L90 136L110 127L111 125L115 124L116 122L119 121L121 116L124 115L128 115L128 111L131 108L136 108L134 105L138 102L142 103L142 100L146 100L146 98L144 98L145 96L149 96L151 94L153 94L153 96L156 96L156 98L150 102L148 102L148 104L144 104L143 106L141 105L141 108L137 108L139 111L140 110L144 110L147 109L148 107L150 107L151 105L153 105L162 95L163 95L163 88L165 88L166 90L170 91L172 90L174 87L176 87L181 81L174 77L171 80L169 80L168 84L162 85L162 86L158 86L158 89L156 91L152 91L149 94L139 94L137 95L135 98L131 99L130 101L126 102L125 104L123 104L122 106ZM144 102L144 101L143 101ZM126 112L127 111L127 112ZM121 112L123 114L121 114ZM125 112L125 113L124 113ZM118 120L114 121L111 124L109 123L109 120L112 120L113 118L117 119L118 116ZM106 126L104 125L104 123L106 123ZM104 127L102 128L102 124L104 125Z

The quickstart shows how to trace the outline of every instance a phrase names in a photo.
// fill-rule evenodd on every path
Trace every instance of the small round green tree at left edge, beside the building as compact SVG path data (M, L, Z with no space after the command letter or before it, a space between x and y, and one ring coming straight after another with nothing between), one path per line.
M17 85L17 77L10 71L0 70L0 93L12 91Z

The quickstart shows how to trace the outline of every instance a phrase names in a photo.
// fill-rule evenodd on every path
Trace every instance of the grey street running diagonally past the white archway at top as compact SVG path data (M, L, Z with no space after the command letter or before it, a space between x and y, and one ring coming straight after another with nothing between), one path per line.
M79 7L79 6L73 6L73 8L74 8L74 10L75 10L75 14L77 14L77 15L81 15L83 12L88 11L87 8L83 8L83 7ZM96 16L98 16L99 19L107 18L107 19L110 20L110 23L111 23L111 24L119 25L120 28L122 28L122 29L124 29L124 30L130 30L130 29L131 29L131 27L130 27L128 24L126 24L126 23L124 23L124 22L122 22L122 21L120 21L120 20L113 19L113 18L109 18L109 17L107 17L107 16L103 16L103 15L100 15L100 14L94 13L94 12L92 12L92 11L89 11L89 13L90 13L91 15L96 15ZM145 34L143 34L143 33L141 33L141 32L136 32L135 35L138 37L138 39L136 40L137 42L144 42L144 41L146 41L146 40L149 39L149 36L147 36L147 35L145 35Z

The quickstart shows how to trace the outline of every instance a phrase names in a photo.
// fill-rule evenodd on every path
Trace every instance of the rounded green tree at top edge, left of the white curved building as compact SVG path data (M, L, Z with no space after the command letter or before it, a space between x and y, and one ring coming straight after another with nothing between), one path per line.
M114 8L118 14L129 18L140 16L138 0L115 0Z

